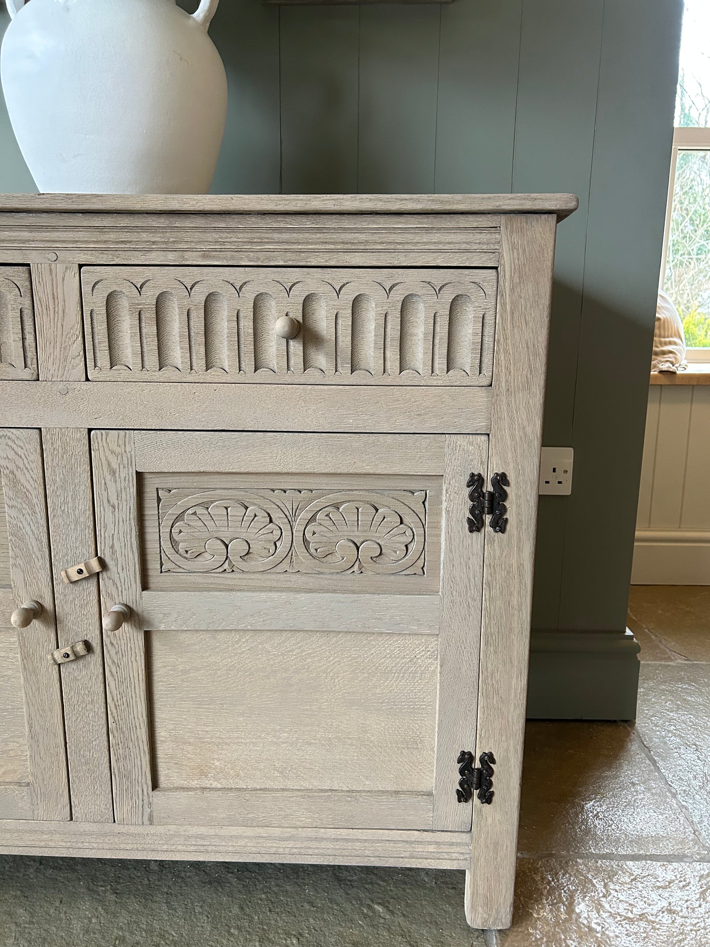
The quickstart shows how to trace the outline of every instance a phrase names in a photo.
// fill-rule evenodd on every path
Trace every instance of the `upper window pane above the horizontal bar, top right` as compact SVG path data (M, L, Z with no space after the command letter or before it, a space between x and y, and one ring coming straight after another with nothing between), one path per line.
M685 0L676 126L710 126L710 3Z

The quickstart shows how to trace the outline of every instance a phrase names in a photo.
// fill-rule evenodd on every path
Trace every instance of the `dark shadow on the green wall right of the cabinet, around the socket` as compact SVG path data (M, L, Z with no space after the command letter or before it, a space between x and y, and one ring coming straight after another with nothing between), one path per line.
M626 627L654 319L655 298L622 312L555 280L542 442L571 444L575 471L539 502L536 629Z

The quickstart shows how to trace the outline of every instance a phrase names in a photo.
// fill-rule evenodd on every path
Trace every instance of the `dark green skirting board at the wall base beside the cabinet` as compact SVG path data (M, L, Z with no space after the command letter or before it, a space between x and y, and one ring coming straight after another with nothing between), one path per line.
M634 720L639 644L617 632L536 632L528 720Z

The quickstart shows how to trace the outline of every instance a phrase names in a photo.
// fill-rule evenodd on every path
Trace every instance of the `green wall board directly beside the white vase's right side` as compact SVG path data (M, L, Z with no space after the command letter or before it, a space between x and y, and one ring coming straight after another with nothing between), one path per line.
M179 0L190 13L196 0ZM222 0L209 29L227 73L227 125L215 194L277 193L278 9Z

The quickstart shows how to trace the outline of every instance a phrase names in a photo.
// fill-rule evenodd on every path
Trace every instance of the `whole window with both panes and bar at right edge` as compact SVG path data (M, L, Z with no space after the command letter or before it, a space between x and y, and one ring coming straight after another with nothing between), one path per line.
M689 362L710 361L710 3L685 0L662 287Z

